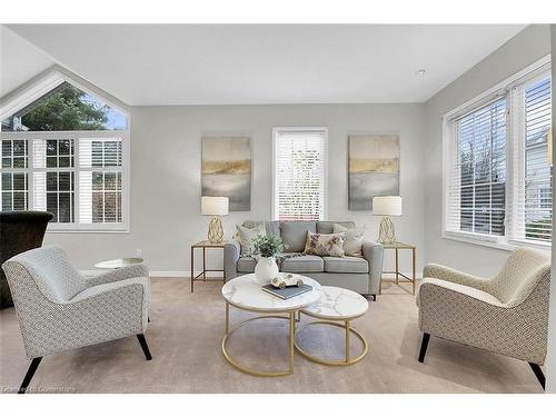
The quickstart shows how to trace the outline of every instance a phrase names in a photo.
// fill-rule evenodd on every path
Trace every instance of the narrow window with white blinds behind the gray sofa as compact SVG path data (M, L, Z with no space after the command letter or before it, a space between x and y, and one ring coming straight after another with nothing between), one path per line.
M274 129L275 220L324 220L326 216L325 128Z

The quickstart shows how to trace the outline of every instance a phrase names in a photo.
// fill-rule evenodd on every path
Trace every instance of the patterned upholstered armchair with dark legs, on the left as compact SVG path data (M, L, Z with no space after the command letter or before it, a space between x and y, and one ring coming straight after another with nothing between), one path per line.
M29 370L23 394L43 356L137 335L151 359L143 332L149 309L143 265L85 278L62 249L43 247L2 265L11 289Z

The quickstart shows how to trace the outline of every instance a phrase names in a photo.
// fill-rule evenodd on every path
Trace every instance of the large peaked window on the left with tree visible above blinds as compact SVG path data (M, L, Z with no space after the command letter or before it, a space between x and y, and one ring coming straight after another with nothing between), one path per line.
M68 81L2 120L2 210L50 230L126 230L128 118Z

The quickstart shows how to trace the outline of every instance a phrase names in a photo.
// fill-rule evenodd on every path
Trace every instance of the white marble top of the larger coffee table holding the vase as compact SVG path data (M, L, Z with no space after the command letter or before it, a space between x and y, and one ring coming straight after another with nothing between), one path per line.
M255 274L244 275L226 282L222 287L222 297L235 307L254 311L298 310L318 301L322 295L320 284L309 277L299 277L305 284L311 286L312 290L287 300L264 291L256 281Z

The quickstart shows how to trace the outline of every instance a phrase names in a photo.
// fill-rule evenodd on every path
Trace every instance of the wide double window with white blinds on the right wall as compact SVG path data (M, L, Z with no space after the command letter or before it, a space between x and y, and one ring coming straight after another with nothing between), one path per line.
M550 244L550 123L546 66L445 117L445 236Z

